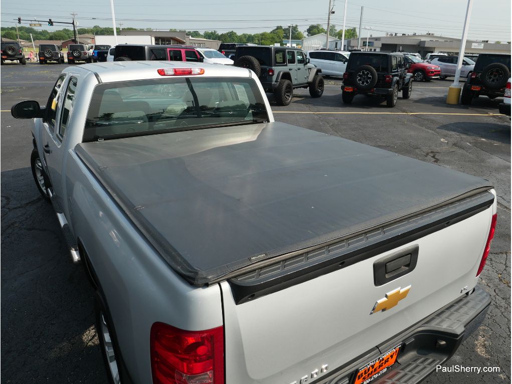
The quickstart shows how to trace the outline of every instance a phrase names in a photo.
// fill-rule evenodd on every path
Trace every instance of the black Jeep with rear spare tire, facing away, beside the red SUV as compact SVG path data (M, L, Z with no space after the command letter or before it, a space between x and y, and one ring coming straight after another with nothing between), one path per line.
M382 96L390 107L396 105L398 92L411 97L410 64L401 53L352 52L343 74L342 99L350 104L355 95Z

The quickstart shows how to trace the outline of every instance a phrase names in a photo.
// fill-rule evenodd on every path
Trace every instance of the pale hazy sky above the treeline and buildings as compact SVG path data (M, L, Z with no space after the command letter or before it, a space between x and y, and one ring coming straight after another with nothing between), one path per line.
M331 24L343 26L345 2L332 0L334 14ZM473 40L510 41L510 0L474 0L468 38ZM361 6L363 27L372 27L370 34L434 33L460 38L467 0L348 0L346 28L359 28ZM270 31L275 26L298 25L305 31L311 24L327 27L329 0L114 0L117 27L153 28L158 30L200 31L219 33L233 30L241 33ZM71 22L77 14L78 27L112 27L110 0L3 0L0 7L2 27L12 27L22 19ZM22 22L28 26L29 22ZM48 31L70 26L41 28ZM367 31L361 35L366 37Z

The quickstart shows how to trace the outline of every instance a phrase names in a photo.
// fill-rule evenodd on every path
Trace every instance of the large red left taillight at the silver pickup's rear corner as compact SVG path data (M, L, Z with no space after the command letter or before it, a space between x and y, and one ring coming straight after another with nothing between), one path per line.
M154 323L150 348L154 384L224 384L223 327L184 331Z

